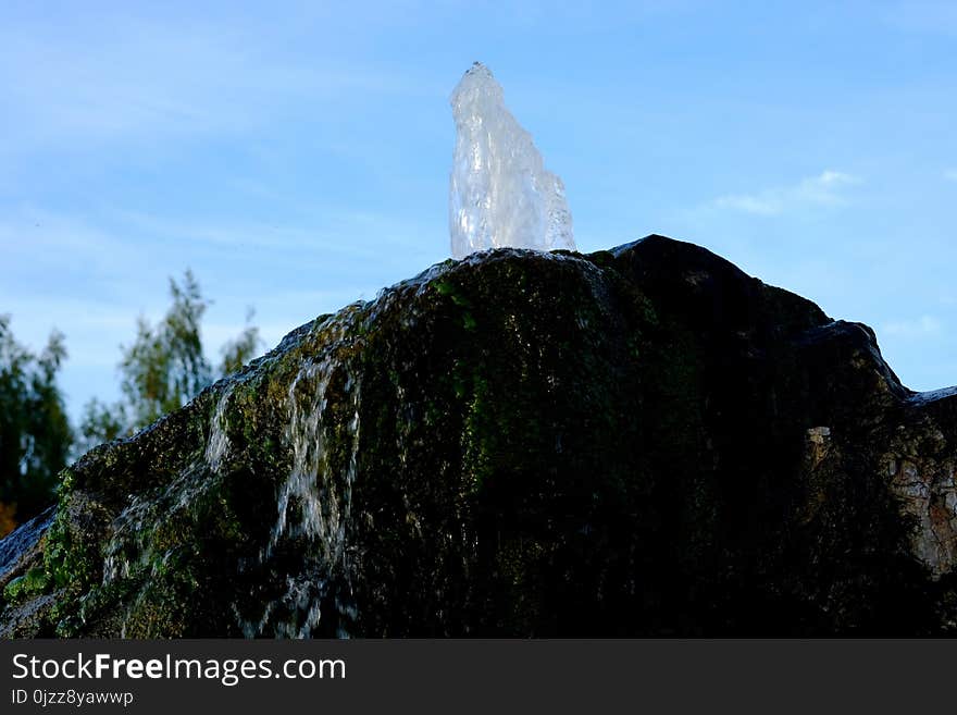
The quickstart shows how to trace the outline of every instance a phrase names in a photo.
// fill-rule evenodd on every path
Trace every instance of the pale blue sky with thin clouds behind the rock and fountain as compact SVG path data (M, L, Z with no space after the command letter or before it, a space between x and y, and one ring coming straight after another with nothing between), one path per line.
M186 268L215 358L445 259L474 60L581 250L700 244L957 383L955 2L149 7L0 2L0 312L66 334L74 415Z

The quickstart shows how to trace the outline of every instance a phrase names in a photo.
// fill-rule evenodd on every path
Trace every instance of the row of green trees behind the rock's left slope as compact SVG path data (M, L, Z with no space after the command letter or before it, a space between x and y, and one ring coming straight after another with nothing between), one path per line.
M190 271L179 282L170 280L170 297L165 316L154 325L140 318L133 343L121 348L122 399L87 403L76 435L57 385L66 359L63 334L54 331L34 355L14 338L10 317L0 315L0 537L52 502L57 477L71 458L150 424L212 382L200 333L210 301ZM250 310L246 328L222 348L220 374L235 372L259 352L252 317Z

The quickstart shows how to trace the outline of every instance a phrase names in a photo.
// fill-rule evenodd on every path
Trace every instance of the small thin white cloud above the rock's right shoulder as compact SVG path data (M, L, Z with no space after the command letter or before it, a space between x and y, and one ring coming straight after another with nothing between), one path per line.
M768 188L755 194L721 196L709 206L756 215L778 215L813 206L842 206L847 201L843 190L860 181L852 174L826 170L793 186Z

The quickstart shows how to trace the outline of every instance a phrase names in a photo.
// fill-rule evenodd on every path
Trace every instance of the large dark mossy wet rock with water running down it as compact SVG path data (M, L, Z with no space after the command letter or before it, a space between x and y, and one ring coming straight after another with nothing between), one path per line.
M476 254L65 470L0 628L953 633L955 393L689 244Z

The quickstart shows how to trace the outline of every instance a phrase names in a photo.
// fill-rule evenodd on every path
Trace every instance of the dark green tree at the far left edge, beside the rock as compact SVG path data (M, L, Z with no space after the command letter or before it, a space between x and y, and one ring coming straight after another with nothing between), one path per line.
M57 385L65 359L62 333L34 355L0 316L0 535L53 501L66 466L73 434Z

